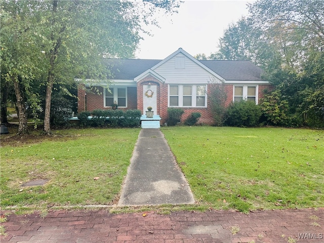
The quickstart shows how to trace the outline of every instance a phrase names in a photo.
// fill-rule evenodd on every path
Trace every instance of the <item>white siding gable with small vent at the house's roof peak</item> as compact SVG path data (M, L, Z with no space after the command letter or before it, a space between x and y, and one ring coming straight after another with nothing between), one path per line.
M181 52L153 70L166 79L166 84L208 84L213 79L220 81Z

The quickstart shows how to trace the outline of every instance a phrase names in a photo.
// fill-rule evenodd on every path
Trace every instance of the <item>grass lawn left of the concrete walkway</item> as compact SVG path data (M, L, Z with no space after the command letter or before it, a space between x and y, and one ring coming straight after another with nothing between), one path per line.
M3 146L1 206L116 203L138 133L139 129L70 129L43 136L37 143ZM44 186L21 186L39 179L49 181Z

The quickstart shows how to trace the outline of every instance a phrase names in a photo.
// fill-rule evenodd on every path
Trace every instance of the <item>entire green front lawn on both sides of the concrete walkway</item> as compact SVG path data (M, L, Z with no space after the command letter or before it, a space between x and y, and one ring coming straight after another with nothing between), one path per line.
M1 206L116 204L139 131L71 129L36 143L2 142ZM324 206L324 131L204 126L161 131L197 201L190 209ZM21 187L34 179L50 181Z

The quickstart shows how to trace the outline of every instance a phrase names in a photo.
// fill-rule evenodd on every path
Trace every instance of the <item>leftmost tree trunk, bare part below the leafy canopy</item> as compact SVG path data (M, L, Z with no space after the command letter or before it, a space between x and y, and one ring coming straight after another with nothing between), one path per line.
M15 94L17 98L18 107L18 117L19 117L19 127L17 135L28 134L27 126L27 113L24 100L24 92L21 89L21 85L17 76L12 77L14 83Z

